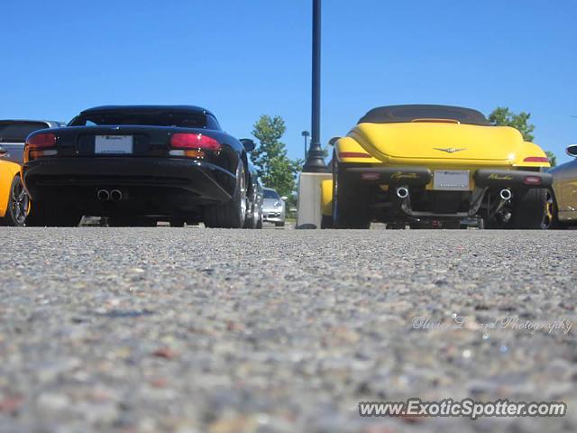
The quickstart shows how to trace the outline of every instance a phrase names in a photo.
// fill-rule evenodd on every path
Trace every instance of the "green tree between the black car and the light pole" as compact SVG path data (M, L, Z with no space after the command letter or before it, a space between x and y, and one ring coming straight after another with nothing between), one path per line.
M251 161L265 186L276 189L281 196L292 195L302 165L300 160L289 159L287 146L280 141L286 130L285 121L279 115L261 115L252 130L260 144L251 152Z

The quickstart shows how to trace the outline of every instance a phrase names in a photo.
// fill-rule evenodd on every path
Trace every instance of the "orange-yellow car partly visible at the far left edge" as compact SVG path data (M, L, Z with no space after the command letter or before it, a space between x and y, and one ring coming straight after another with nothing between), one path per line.
M30 200L20 177L20 164L6 161L7 154L0 146L0 226L23 226Z

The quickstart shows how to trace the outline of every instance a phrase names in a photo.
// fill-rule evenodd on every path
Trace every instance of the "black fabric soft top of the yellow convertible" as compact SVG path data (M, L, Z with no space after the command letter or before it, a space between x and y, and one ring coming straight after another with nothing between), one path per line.
M462 124L490 126L487 118L477 110L463 106L406 105L380 106L363 115L360 124L395 124L416 119L451 119Z

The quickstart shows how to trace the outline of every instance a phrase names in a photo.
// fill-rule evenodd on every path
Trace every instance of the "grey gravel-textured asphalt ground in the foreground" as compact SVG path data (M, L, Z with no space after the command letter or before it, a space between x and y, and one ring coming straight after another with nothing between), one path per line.
M2 228L0 245L3 433L577 431L575 231ZM563 328L488 326L504 318ZM357 412L409 397L569 414Z

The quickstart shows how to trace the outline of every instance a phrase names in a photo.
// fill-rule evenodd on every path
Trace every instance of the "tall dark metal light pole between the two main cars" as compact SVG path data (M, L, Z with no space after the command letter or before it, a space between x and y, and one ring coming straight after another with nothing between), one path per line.
M321 0L313 0L313 104L311 115L312 137L305 173L325 173L326 167L321 148Z

